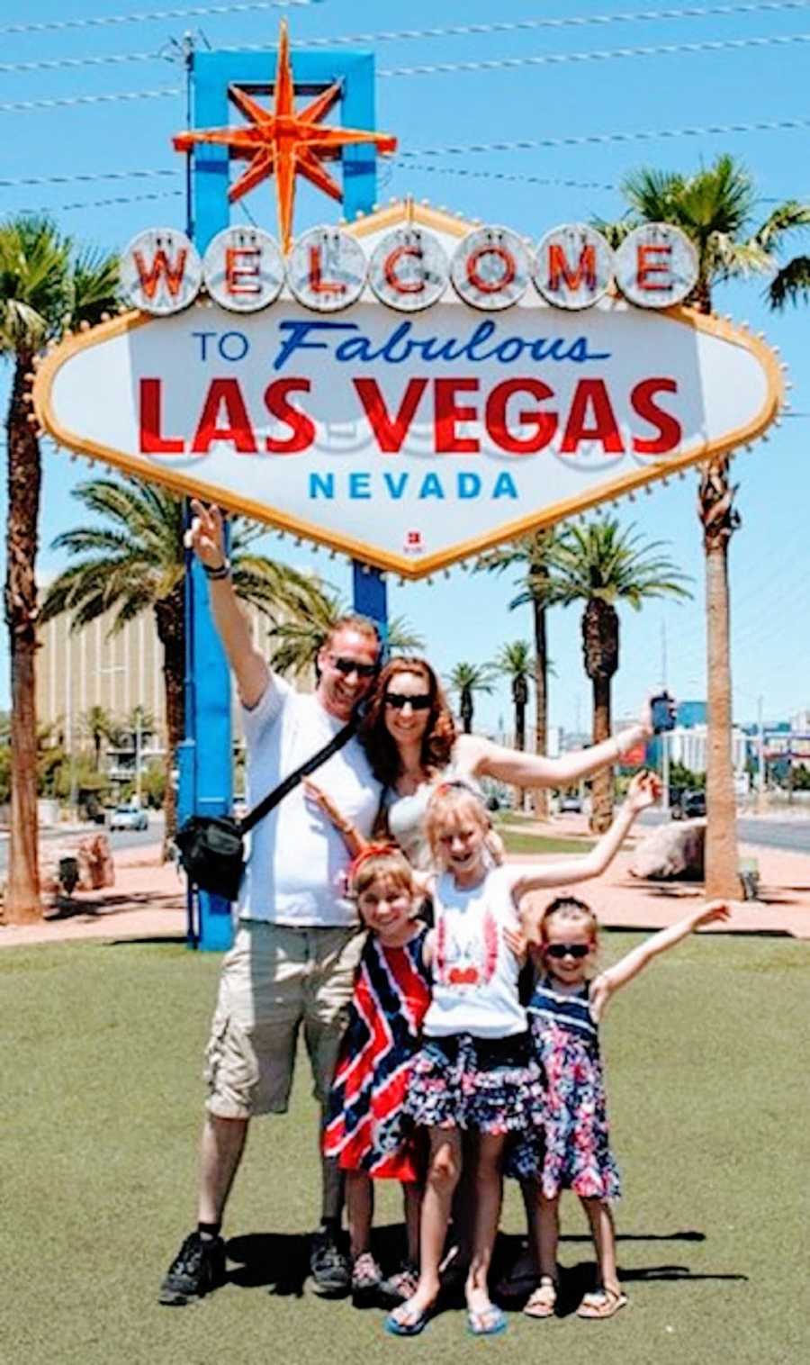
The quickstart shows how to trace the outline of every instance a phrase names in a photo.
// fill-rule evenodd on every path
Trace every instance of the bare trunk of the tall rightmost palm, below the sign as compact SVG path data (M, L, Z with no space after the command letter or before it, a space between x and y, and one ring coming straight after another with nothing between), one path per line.
M728 460L713 460L700 487L706 553L706 895L739 895L736 801L731 758L731 650L728 542L739 526L728 482Z

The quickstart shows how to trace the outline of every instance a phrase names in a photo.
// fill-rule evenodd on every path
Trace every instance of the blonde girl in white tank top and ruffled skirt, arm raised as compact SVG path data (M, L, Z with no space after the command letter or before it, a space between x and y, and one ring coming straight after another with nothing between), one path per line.
M604 871L634 816L656 796L649 777L637 779L611 830L588 854L533 868L492 864L488 814L464 782L442 784L430 799L427 837L442 868L432 880L436 927L427 947L434 990L406 1100L415 1122L427 1127L430 1158L419 1286L386 1319L386 1330L398 1336L423 1331L439 1293L439 1263L465 1132L479 1138L465 1286L468 1325L476 1336L506 1327L487 1287L500 1211L500 1163L507 1136L525 1132L541 1102L540 1069L517 988L520 900L526 891Z

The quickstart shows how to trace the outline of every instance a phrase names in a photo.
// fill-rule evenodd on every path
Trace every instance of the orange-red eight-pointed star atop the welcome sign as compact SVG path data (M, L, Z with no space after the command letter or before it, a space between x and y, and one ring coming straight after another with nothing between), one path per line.
M372 143L380 153L397 150L397 139L385 132L371 132L365 128L323 127L320 120L340 100L341 89L342 85L338 81L304 109L296 112L289 35L286 22L282 22L273 109L266 109L247 90L232 85L228 94L248 120L248 126L180 132L172 139L175 150L191 152L196 143L225 146L233 157L247 161L247 168L228 191L232 203L255 190L262 180L275 176L278 233L284 251L289 251L296 176L303 175L318 190L340 202L344 198L344 191L326 169L325 161L334 161L341 156L344 147L361 143Z

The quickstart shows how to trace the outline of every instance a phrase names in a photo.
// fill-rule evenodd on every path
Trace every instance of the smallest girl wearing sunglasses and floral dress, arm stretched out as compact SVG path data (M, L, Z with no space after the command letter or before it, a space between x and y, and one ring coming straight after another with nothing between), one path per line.
M571 1189L588 1213L599 1289L582 1299L580 1317L612 1317L627 1302L616 1274L610 1200L619 1196L619 1173L608 1147L608 1123L599 1054L599 1024L616 991L705 924L727 920L724 901L700 905L592 976L599 946L596 916L574 897L559 897L540 921L541 977L529 1005L535 1058L545 1073L544 1152L539 1171L537 1259L540 1284L524 1312L551 1317L556 1302L559 1197Z

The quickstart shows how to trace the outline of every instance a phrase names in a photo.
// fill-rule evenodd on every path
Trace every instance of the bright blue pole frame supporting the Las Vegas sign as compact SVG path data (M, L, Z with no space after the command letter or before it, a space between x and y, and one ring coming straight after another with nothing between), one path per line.
M356 52L300 52L292 56L296 89L318 93L342 83L341 111L346 127L374 128L374 57ZM198 52L190 57L192 127L224 127L229 121L228 86L267 89L275 53ZM226 147L200 145L194 153L191 236L200 253L229 225L229 158ZM348 218L368 213L376 199L372 146L344 150L344 205ZM386 632L386 586L378 569L355 562L355 610ZM195 561L187 573L185 741L179 755L179 818L192 812L222 815L232 805L230 677L209 606L205 575ZM195 913L196 912L196 913ZM232 942L230 905L199 891L190 904L188 940L221 951Z

